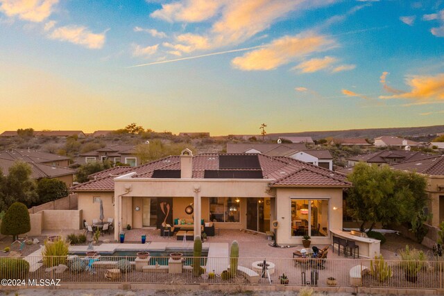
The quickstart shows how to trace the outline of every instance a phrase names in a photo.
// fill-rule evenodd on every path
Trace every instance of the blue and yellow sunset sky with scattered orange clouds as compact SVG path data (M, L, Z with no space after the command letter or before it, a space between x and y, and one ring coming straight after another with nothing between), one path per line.
M444 124L444 1L0 0L0 132Z

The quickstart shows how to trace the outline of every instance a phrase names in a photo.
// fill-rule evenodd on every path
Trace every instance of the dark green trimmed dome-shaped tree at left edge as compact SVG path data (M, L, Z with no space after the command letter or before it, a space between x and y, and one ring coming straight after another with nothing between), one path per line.
M1 221L0 232L12 236L12 241L17 240L17 235L25 234L31 230L31 220L28 208L22 202L14 202L6 211Z

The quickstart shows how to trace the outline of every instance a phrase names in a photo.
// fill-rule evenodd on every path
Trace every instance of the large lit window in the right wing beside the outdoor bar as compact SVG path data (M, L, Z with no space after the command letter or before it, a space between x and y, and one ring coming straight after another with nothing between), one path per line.
M328 236L328 200L291 199L291 236Z

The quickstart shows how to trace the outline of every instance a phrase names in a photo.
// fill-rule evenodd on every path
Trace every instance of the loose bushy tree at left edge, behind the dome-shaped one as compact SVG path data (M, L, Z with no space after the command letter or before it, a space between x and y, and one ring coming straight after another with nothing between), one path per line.
M23 202L28 206L37 202L36 185L31 179L31 173L31 166L26 162L17 161L9 168L8 176L0 186L3 209L7 209L14 202Z

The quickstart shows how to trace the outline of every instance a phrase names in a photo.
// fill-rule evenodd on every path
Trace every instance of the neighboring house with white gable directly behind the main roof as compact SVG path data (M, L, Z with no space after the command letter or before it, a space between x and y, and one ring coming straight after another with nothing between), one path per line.
M332 170L333 157L329 150L307 150L305 143L241 143L227 144L227 153L261 153L286 156Z

